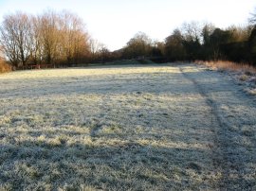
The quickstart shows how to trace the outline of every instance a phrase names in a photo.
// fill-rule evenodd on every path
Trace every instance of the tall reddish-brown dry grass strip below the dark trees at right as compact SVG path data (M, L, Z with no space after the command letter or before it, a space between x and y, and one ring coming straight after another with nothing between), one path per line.
M195 62L198 64L206 65L215 70L256 74L256 67L253 67L248 63L236 63L232 61L195 61Z

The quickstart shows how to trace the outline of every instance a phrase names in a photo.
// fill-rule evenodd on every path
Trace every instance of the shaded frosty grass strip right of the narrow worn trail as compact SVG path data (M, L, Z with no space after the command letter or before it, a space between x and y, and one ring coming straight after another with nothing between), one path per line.
M211 109L215 133L213 160L223 174L220 189L255 189L255 97L247 96L238 85L219 73L194 66L179 68Z

